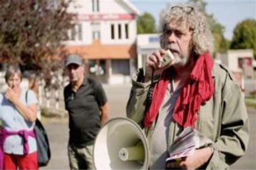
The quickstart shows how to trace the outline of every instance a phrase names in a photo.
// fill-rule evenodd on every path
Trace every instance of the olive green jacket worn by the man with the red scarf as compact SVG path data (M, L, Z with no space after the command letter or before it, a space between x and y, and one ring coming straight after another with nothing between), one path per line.
M132 77L132 89L127 103L127 117L142 125L145 114L145 101L150 82L139 82L141 69ZM140 75L140 77L138 76ZM207 162L206 169L228 169L245 154L249 140L248 115L244 97L232 73L223 65L214 65L212 70L214 94L210 101L201 104L196 129L213 141L214 152ZM158 81L154 79L154 81ZM145 128L149 145L156 121L150 129ZM172 121L169 128L168 148L183 130Z

